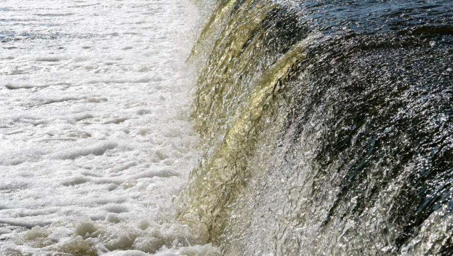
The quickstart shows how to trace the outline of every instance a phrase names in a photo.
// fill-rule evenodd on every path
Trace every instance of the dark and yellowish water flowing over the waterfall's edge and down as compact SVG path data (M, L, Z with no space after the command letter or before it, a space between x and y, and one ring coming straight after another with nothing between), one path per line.
M218 0L189 62L223 255L453 254L450 0Z

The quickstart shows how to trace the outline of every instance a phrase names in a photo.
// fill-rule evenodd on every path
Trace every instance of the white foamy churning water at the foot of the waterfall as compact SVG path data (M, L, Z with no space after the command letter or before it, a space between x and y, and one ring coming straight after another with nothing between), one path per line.
M0 1L0 255L211 255L174 219L196 162L186 0Z

